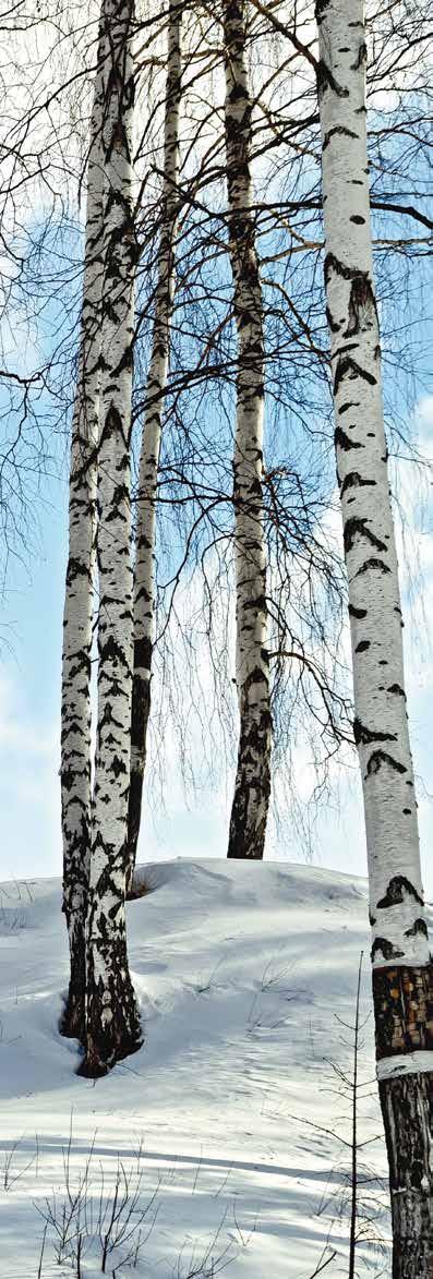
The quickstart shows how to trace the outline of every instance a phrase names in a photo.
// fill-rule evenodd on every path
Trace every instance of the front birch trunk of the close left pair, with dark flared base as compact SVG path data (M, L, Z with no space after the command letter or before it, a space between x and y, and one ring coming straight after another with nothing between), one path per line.
M99 449L99 674L87 914L86 1060L105 1073L140 1046L126 938L132 684L129 434L137 261L132 192L133 0L104 0L109 41L102 146L104 290Z

